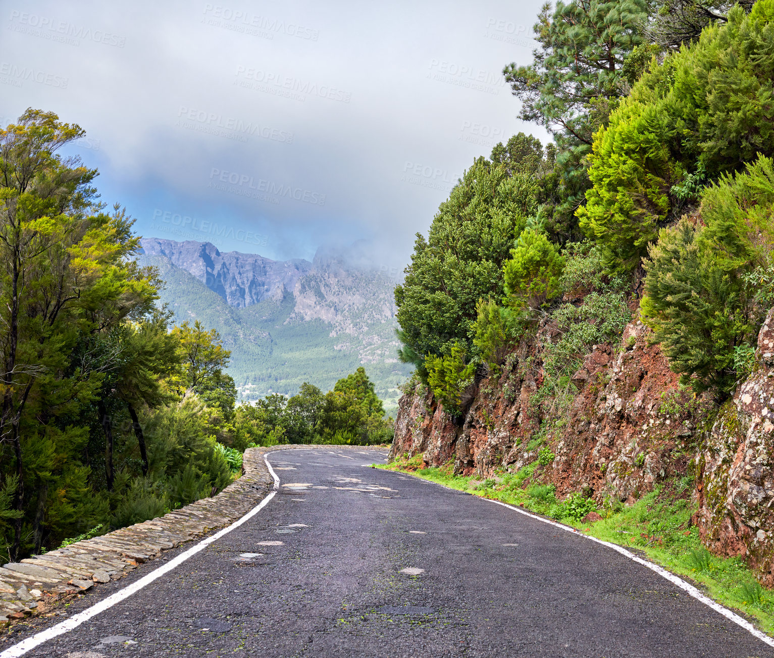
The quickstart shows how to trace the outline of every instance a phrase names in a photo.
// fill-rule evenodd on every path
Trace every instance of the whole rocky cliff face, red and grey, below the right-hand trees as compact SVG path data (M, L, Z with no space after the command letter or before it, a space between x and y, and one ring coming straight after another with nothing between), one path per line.
M481 380L461 424L417 385L399 401L391 457L423 453L427 466L453 460L455 472L485 478L545 454L533 482L599 505L631 503L658 482L695 476L694 521L705 545L745 557L774 585L774 310L755 372L720 410L678 385L639 321L619 344L594 346L572 378L577 392L553 416L536 405L544 382L534 354L532 343L519 344L502 374ZM560 420L546 423L551 417Z

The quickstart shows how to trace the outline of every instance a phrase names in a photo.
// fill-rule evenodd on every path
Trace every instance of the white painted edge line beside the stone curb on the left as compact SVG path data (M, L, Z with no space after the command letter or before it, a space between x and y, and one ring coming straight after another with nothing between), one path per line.
M272 498L274 498L274 495L279 489L279 478L274 472L272 464L269 464L267 455L263 456L263 461L265 461L266 466L269 467L269 473L271 473L272 478L274 478L274 487L272 488L272 492L270 492L269 495L265 497L265 499L259 502L259 504L251 509L247 514L245 514L245 516L242 516L241 519L237 519L234 523L231 523L230 526L222 530L218 530L214 535L208 536L207 538L201 540L196 544L196 546L192 546L183 553L180 553L180 555L174 557L166 564L163 564L161 567L154 569L149 574L146 574L140 578L139 581L135 581L132 584L127 585L125 588L114 592L107 598L103 598L101 601L98 601L98 603L92 605L91 608L86 608L84 611L78 612L77 615L73 615L72 617L65 619L63 622L52 626L50 629L36 633L33 636L29 636L28 638L23 639L19 644L15 644L14 646L9 647L9 649L5 649L5 651L0 653L0 658L18 658L18 656L23 656L25 653L31 651L36 646L40 646L44 642L48 642L50 639L63 635L66 632L70 632L74 628L77 628L77 626L80 626L83 622L87 622L92 617L99 615L100 612L104 612L108 608L112 608L116 603L120 603L125 598L132 596L135 594L135 592L141 590L146 585L151 584L153 581L162 577L164 574L172 571L178 565L183 564L183 562L185 562L189 557L196 555L200 552L200 550L204 550L211 543L216 542L222 536L227 535L231 532L231 530L238 528L242 525L242 523L246 523L248 520L252 519L253 516L258 514L258 512L260 512L265 507L265 505Z

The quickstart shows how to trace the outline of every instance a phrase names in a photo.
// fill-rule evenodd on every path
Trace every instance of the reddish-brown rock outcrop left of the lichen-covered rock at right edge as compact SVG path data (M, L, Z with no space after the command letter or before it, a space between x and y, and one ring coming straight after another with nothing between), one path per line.
M599 503L631 502L659 479L686 471L706 409L678 387L648 333L638 320L620 344L595 345L572 377L577 392L563 411L536 404L543 371L532 365L530 344L519 345L502 375L481 381L461 426L417 386L400 400L392 457L421 452L432 466L454 458L456 472L485 478L521 468L547 448L555 458L536 477L557 485L558 495L582 491Z

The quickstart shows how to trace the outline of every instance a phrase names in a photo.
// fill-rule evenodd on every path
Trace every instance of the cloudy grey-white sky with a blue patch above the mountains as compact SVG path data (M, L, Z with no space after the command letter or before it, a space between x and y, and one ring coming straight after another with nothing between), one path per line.
M83 127L71 152L141 235L276 259L365 240L394 271L474 157L546 140L501 74L539 5L0 0L0 122Z

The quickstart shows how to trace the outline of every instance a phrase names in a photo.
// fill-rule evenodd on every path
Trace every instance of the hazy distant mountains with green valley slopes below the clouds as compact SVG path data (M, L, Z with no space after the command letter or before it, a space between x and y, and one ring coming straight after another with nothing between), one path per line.
M364 260L354 250L273 261L161 238L142 238L138 255L166 281L161 302L177 322L221 334L243 399L293 395L303 382L326 391L363 365L394 410L411 373L396 357L395 282Z

